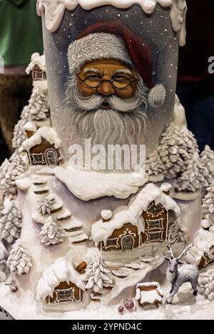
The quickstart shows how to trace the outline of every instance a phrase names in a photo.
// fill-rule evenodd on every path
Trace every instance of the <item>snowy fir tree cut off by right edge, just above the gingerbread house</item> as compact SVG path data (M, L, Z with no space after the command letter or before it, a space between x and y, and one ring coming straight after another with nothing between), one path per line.
M214 183L207 191L203 198L203 218L207 219L210 225L214 225Z

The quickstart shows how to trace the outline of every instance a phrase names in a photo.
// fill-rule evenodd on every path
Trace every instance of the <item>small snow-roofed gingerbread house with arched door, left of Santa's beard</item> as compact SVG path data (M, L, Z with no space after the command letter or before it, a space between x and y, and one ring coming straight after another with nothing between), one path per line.
M56 131L51 127L40 127L27 130L29 137L23 143L23 149L27 152L31 165L57 166L61 161L60 147Z

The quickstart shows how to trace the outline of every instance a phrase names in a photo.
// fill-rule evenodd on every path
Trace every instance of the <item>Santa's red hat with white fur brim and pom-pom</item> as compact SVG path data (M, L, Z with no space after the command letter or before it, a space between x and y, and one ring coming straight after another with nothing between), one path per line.
M149 90L148 103L155 108L165 101L165 87L152 80L153 52L121 21L89 26L68 47L70 73L78 73L89 61L113 58L135 68Z

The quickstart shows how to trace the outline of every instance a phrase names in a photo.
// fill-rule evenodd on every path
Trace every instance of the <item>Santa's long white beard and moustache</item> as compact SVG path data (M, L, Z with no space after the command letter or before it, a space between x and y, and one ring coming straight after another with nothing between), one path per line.
M95 145L143 145L146 144L148 90L142 80L133 98L122 100L116 96L105 98L93 95L83 98L78 93L76 75L68 82L64 111L72 126L71 145L84 145L91 139ZM102 109L108 102L111 109Z

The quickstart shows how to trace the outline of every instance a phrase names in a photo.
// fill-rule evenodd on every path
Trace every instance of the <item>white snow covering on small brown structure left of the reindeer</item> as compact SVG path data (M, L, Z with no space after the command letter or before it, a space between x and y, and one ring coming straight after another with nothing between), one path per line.
M143 286L156 286L155 290L150 291L141 291ZM161 295L161 296L160 296ZM143 303L153 304L155 301L162 301L163 299L163 291L161 290L161 286L158 282L149 282L149 283L139 283L136 287L136 301L140 301Z

